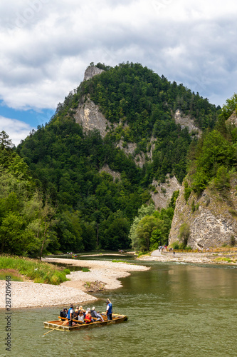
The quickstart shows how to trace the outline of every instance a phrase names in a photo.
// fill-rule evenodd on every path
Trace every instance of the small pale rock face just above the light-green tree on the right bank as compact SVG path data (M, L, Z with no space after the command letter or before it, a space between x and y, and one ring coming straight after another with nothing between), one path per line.
M181 189L181 185L175 176L172 178L168 176L167 182L160 184L153 180L152 185L156 188L156 191L150 192L156 209L167 208L170 198L172 198L173 192Z

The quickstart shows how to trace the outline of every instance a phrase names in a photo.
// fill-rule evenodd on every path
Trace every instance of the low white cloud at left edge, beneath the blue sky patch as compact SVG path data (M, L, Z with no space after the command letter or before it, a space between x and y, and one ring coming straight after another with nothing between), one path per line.
M35 128L26 124L24 121L0 116L0 131L6 131L6 134L9 135L9 139L11 139L15 146L20 144L21 140L26 139L26 136L28 136L32 129Z

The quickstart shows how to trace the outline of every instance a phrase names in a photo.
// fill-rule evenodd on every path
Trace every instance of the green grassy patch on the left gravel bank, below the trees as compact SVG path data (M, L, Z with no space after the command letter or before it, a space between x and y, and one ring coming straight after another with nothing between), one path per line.
M68 273L66 270L37 259L19 256L0 256L0 269L14 269L16 273L30 278L35 283L59 285L68 280L65 276Z

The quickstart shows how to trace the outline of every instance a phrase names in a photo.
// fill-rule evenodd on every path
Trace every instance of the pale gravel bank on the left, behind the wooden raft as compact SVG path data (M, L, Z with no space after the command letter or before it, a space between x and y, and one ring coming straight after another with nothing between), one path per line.
M130 263L113 263L112 261L79 261L64 258L45 258L48 263L65 263L74 266L88 267L90 271L72 271L60 286L33 283L28 281L11 281L11 308L36 308L46 306L68 306L70 303L82 304L97 300L85 292L86 282L100 281L106 290L120 288L117 280L129 276L132 271L146 271L147 266ZM0 281L1 291L5 290L5 281ZM5 295L0 296L0 308L5 308Z

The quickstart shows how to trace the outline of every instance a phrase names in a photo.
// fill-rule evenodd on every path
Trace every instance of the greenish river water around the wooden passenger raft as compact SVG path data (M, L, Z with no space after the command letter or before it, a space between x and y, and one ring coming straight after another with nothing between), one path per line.
M146 265L151 270L122 278L122 288L96 294L97 310L105 311L109 297L127 322L43 336L43 321L56 320L60 308L13 309L12 348L4 353L1 311L0 356L237 356L237 268Z

